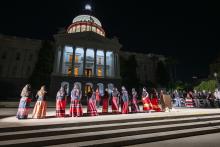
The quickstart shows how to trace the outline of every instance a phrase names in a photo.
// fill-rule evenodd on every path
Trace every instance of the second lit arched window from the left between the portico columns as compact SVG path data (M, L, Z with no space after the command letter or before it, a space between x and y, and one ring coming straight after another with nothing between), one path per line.
M77 47L75 50L75 63L74 63L74 75L75 76L83 75L83 58L84 58L83 48Z

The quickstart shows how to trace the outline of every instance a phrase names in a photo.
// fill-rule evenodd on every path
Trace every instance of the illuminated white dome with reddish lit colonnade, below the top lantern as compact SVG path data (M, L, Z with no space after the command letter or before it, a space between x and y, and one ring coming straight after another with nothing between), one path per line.
M68 33L92 31L101 36L105 36L101 22L91 15L79 15L73 19L72 24L68 27Z

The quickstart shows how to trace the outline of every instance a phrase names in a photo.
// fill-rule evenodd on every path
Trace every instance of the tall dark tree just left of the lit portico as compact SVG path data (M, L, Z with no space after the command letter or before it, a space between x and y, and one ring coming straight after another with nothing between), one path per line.
M53 71L53 62L53 44L50 41L43 41L38 53L38 61L29 79L33 89L39 89L42 85L49 87L50 75Z

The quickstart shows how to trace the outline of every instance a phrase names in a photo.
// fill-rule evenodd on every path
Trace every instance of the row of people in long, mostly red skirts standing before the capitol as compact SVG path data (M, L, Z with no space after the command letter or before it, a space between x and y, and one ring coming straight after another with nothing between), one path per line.
M45 118L47 111L47 102L46 102L45 86L42 86L41 89L36 94L36 103L33 109L32 118ZM30 111L30 103L32 101L33 94L31 91L31 85L27 84L21 92L21 99L19 103L19 108L16 117L18 119L26 119ZM70 94L70 108L69 116L70 117L81 117L85 115L83 113L83 108L81 104L82 91L78 84L75 84L71 94ZM65 86L61 86L56 95L56 117L65 117L66 114L66 105L68 101L68 94ZM131 96L129 96L128 91L124 86L121 88L121 92L117 88L109 93L108 89L105 89L104 95L101 96L99 88L96 90L90 89L87 93L87 113L89 116L98 115L98 107L102 102L102 113L108 113L109 103L111 103L111 112L112 113L122 113L127 114L129 112L137 113L140 112L139 103L143 104L143 112L151 112L152 110L156 112L161 111L161 107L158 104L158 93L156 89L152 92L152 97L150 98L149 93L146 88L143 88L141 100L138 101L138 94L135 88L132 88ZM131 106L131 109L129 109ZM121 111L119 108L121 107Z

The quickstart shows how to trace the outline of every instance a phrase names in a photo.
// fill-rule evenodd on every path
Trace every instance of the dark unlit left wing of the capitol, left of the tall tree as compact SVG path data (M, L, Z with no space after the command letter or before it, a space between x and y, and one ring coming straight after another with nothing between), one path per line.
M1 97L20 95L33 72L40 47L41 40L0 35Z

